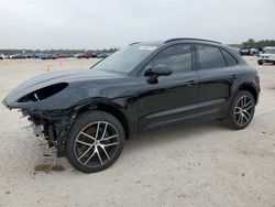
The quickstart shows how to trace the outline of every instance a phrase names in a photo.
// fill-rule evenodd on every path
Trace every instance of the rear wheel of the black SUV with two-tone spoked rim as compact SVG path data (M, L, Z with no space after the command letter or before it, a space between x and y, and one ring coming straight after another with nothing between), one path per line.
M235 130L246 128L253 119L255 99L250 91L240 90L231 100L226 123Z

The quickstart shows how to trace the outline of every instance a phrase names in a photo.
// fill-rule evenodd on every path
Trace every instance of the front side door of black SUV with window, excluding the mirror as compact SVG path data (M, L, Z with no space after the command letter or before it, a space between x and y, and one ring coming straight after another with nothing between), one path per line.
M196 113L198 75L193 66L194 48L177 44L161 51L142 73L143 86L139 90L139 120L141 130L182 122ZM160 76L148 84L144 73L165 64L173 69L169 76Z

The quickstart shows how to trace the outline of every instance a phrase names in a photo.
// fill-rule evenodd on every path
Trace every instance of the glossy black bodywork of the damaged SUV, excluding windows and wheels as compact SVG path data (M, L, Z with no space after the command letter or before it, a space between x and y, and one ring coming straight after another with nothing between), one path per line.
M256 70L228 46L191 39L136 44L156 45L157 48L128 74L94 68L48 73L20 85L3 103L10 109L22 109L34 123L43 124L46 139L57 146L58 155L63 156L66 134L75 117L86 110L98 108L112 113L122 122L130 138L139 131L177 122L223 118L239 89L250 90L257 100L260 85ZM191 70L160 76L156 77L157 83L150 84L148 77L144 76L147 63L161 51L177 44L193 46ZM237 64L200 69L198 44L224 50ZM35 98L38 89L59 83L67 86L53 96L20 101L24 96Z

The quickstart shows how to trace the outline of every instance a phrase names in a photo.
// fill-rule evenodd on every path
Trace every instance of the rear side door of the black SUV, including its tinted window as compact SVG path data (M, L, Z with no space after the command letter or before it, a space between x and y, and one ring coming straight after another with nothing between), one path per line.
M227 109L231 86L238 78L237 61L223 48L196 45L198 68L198 113L222 117Z

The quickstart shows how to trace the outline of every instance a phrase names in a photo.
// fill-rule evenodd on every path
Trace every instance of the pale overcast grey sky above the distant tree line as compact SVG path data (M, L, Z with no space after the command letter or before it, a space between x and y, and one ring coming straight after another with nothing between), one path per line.
M275 39L275 0L0 0L0 48L109 48Z

